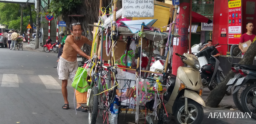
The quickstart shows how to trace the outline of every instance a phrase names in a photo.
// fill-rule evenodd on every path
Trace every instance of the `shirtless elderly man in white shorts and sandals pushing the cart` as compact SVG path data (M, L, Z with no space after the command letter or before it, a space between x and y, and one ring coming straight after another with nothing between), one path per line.
M64 97L65 104L62 109L69 109L69 101L67 99L67 84L68 78L73 81L76 71L78 69L78 62L76 61L77 54L79 53L87 59L91 59L90 56L83 53L81 47L83 44L88 44L92 46L93 42L88 40L85 36L82 36L82 25L80 23L74 23L70 26L70 31L72 35L67 36L65 41L65 46L63 48L63 53L59 57L59 62L57 66L59 80L62 80L62 95ZM81 104L76 105L76 110L87 111Z

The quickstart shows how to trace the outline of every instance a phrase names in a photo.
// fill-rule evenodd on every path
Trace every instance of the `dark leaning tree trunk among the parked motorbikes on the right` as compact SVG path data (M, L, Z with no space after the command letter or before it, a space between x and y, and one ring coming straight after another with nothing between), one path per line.
M255 49L256 49L256 42L253 42L249 46L245 55L243 56L243 58L240 60L240 62L238 64L252 65L254 57L256 55ZM228 88L228 86L226 86L226 84L233 77L234 77L234 73L232 72L232 70L230 70L228 72L228 75L225 77L225 79L215 89L213 89L210 92L210 94L208 95L208 97L206 99L206 106L217 107L219 105L219 103L221 102L221 100L223 99L223 97L226 93L226 89Z

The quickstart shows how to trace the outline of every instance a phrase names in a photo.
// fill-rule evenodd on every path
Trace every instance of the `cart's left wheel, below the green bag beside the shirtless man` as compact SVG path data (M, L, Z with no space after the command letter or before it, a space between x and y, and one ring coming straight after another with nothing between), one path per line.
M91 89L90 97L89 97L89 111L88 111L88 122L89 124L96 124L97 115L98 115L98 88L93 87Z

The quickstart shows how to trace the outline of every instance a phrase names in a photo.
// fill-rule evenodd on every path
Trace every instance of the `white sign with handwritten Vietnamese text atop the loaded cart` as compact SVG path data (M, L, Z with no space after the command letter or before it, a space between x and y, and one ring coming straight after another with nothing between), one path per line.
M123 17L154 17L154 0L122 0Z

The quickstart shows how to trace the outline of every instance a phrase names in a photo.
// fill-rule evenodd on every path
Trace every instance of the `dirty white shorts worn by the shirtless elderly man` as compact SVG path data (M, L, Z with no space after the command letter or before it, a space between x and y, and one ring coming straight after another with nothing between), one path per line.
M59 57L59 63L57 66L59 80L67 80L68 78L73 81L76 71L78 69L78 62L69 62L62 57Z

